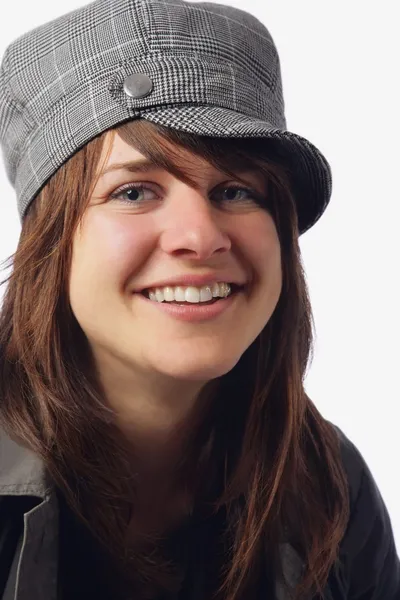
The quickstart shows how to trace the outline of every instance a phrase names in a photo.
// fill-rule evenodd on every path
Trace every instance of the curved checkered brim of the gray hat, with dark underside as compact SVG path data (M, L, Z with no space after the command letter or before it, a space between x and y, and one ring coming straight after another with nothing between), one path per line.
M174 106L141 111L141 117L201 136L273 139L285 162L297 206L299 235L324 213L332 193L332 174L323 154L307 139L266 121L216 106Z

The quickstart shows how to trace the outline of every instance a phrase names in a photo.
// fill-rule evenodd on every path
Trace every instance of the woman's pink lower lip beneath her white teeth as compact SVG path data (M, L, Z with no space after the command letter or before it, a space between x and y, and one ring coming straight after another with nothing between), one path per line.
M168 302L155 302L154 300L150 300L143 296L143 294L136 294L144 302L162 310L164 313L171 315L175 319L179 321L189 321L189 322L199 322L199 321L209 321L211 319L215 319L226 310L228 310L231 306L233 306L238 299L238 297L242 294L242 291L237 291L228 296L227 298L221 298L217 300L214 304L169 304Z

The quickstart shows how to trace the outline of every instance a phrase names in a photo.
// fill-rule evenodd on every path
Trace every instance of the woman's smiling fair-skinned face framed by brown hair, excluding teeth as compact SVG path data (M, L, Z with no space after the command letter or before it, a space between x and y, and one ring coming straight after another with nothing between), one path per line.
M110 170L100 177L73 241L69 291L75 317L100 369L119 363L146 377L219 377L235 366L278 302L281 254L273 219L251 193L237 189L243 183L191 153L180 150L196 188L143 166L144 156L118 135L109 139L102 173ZM100 164L106 151L107 144ZM141 162L142 171L135 172L133 164ZM111 169L117 163L131 167ZM238 175L264 192L262 175ZM209 309L191 304L190 316L173 314L171 304L140 292L199 276L205 279L195 287L225 281L244 289Z

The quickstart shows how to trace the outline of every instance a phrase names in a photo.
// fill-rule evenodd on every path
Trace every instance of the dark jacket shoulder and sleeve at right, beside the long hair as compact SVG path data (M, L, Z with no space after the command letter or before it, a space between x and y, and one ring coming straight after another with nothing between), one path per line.
M337 425L334 428L350 496L350 518L340 547L348 597L400 600L400 561L386 505L361 452Z

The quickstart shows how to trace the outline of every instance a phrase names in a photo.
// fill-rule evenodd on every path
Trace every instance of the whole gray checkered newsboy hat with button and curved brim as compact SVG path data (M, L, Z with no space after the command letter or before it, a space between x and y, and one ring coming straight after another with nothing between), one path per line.
M213 137L273 139L295 193L299 233L331 196L330 167L286 130L280 61L255 17L184 0L95 0L8 46L0 144L21 220L79 148L128 119Z

